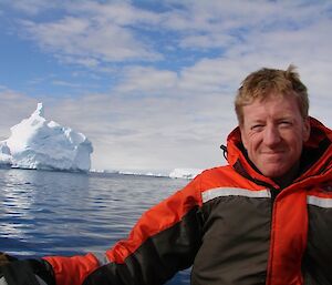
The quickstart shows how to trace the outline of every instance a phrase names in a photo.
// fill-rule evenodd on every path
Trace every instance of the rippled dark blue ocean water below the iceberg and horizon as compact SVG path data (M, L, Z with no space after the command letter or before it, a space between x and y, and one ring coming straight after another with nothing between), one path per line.
M19 258L102 253L144 211L188 181L101 173L0 170L0 252ZM188 271L167 285L189 284Z

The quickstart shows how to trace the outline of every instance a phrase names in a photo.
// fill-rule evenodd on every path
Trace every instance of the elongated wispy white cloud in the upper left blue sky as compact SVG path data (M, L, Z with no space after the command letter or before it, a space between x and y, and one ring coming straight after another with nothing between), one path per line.
M56 22L21 21L29 37L44 49L72 62L96 65L97 61L155 60L160 58L135 39L129 29L100 26L87 19L66 17Z

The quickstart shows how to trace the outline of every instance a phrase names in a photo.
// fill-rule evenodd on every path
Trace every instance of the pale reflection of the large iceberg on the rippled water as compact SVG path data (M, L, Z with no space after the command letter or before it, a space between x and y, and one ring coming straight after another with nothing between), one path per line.
M83 174L73 179L71 173L1 170L1 244L10 242L20 254L33 255L48 246L51 252L54 241L72 231L69 212L87 192L87 181Z

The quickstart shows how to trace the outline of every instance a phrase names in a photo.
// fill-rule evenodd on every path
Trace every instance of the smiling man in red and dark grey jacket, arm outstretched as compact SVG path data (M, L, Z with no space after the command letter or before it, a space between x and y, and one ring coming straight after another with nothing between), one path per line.
M104 256L12 262L6 279L157 285L193 265L193 285L332 284L331 130L308 115L292 65L249 74L235 106L228 165L147 211Z

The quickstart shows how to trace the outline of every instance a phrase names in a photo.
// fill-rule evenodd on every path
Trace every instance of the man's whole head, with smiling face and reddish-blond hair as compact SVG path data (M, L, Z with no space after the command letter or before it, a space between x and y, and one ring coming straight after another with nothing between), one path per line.
M293 68L287 72L292 74ZM269 70L263 69L245 81L237 113L249 160L264 176L284 186L298 175L303 143L310 136L308 94L300 81L298 90L286 84L281 71L271 79L263 78L266 73Z

